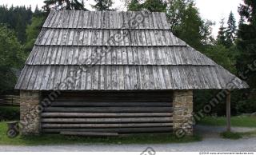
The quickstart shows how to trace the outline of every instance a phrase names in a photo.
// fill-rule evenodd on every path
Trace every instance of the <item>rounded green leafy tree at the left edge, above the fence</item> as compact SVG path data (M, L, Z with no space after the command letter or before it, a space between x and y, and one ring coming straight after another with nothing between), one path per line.
M15 37L14 31L7 26L0 26L0 93L13 89L16 81L16 71L25 62L22 45Z

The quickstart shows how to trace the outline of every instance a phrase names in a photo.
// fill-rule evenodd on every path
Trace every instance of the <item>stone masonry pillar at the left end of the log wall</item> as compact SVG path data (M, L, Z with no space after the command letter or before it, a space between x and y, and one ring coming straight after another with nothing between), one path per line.
M23 135L40 133L40 98L39 91L20 91L20 133Z

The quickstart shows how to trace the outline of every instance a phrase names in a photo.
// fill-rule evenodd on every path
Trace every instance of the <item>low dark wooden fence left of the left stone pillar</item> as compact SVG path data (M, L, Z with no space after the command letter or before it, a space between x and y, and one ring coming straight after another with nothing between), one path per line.
M20 97L18 95L0 95L1 105L19 105Z

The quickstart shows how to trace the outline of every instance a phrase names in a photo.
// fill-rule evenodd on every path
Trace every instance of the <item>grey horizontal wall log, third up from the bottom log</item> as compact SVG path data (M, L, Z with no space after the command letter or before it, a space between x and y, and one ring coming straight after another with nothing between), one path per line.
M42 118L42 123L172 122L172 117Z

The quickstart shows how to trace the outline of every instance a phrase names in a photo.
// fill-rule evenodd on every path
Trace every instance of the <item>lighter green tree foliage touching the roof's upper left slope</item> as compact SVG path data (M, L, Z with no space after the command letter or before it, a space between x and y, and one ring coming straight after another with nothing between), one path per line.
M35 40L38 38L38 34L42 28L44 16L34 16L30 25L26 26L26 52L30 52L34 46Z

